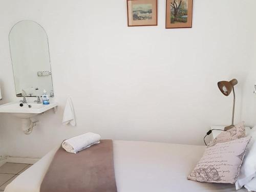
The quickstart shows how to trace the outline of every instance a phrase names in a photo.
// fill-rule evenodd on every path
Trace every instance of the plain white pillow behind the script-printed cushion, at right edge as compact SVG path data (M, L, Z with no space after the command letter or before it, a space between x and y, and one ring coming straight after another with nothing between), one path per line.
M246 148L244 162L236 182L237 189L242 188L256 176L256 126L252 128L248 136L251 136L252 138Z

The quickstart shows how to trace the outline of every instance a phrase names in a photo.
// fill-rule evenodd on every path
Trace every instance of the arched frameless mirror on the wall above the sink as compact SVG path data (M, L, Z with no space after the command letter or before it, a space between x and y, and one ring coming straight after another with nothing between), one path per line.
M16 96L53 97L52 72L47 33L32 20L15 24L9 34Z

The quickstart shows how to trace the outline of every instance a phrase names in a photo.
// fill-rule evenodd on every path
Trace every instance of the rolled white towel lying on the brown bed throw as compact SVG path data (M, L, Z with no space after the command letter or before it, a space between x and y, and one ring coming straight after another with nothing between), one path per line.
M86 133L72 137L62 142L61 146L69 153L78 153L84 148L88 148L100 142L100 135L95 133Z

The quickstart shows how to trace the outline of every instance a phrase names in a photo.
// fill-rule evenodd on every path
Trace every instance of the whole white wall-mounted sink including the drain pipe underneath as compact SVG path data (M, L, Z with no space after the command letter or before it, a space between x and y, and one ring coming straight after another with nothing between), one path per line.
M20 102L10 102L0 105L0 113L10 113L11 115L22 119L22 130L25 134L30 134L37 122L32 121L30 118L50 109L53 109L56 113L57 105L56 102L52 102L47 105L41 103L24 103L23 106L20 106Z

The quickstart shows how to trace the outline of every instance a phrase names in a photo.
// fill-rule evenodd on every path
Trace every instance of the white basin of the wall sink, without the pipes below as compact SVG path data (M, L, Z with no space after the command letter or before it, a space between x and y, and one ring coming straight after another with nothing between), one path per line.
M31 118L40 113L44 113L52 108L56 108L57 103L53 102L48 105L41 103L25 103L23 106L19 106L20 102L10 102L0 105L0 113L11 113L12 115L21 118ZM31 108L29 108L31 105Z

